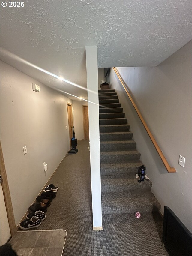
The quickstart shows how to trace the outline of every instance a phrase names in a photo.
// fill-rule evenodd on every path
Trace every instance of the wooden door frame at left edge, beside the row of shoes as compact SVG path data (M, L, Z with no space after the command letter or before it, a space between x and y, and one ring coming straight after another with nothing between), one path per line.
M0 141L0 174L1 174L1 178L2 178L1 185L2 185L2 190L3 190L5 207L6 207L6 211L7 211L7 218L8 218L8 222L9 222L10 234L11 234L11 236L14 236L16 234L16 224L15 224L15 218L14 218L14 214L13 214L13 206L12 206L12 202L11 202L7 174L6 174L6 170L5 170L5 163L4 163L4 158L3 158L1 141Z

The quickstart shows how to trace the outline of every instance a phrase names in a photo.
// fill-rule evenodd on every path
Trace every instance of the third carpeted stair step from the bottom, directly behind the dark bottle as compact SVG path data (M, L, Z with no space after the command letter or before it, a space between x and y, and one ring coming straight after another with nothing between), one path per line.
M135 175L138 173L138 169L141 165L143 165L143 163L140 160L113 164L101 161L101 175Z

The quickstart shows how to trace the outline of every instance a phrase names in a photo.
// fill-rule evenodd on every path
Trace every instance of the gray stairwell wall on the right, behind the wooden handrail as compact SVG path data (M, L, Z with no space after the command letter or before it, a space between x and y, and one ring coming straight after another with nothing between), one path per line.
M140 112L176 173L167 173L113 69L110 83L134 133L152 192L192 231L192 41L157 67L118 68ZM186 158L181 167L179 155Z

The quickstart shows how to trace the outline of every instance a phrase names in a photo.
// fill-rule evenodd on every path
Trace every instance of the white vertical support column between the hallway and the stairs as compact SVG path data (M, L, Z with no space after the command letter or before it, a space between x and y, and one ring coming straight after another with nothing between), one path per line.
M93 230L102 230L97 46L86 46ZM92 103L91 103L92 102ZM95 104L94 104L95 103Z

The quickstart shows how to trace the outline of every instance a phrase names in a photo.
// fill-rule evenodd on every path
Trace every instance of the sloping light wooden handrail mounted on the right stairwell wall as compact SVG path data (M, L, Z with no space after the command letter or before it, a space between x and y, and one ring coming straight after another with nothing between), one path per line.
M147 133L149 134L149 137L150 137L150 139L152 140L152 143L153 143L153 145L155 146L155 149L157 150L157 152L158 152L158 154L159 154L161 160L163 161L163 163L164 163L164 165L165 165L165 168L167 169L168 173L176 173L176 169L173 168L173 167L170 167L169 163L167 162L167 159L165 158L163 152L161 151L161 149L160 149L160 147L159 147L157 141L156 141L155 138L153 137L153 134L152 134L151 131L149 130L149 127L147 126L145 120L143 119L143 116L141 115L141 113L140 113L138 107L136 106L136 104L135 104L133 98L131 97L130 93L128 92L128 89L126 88L126 86L125 86L123 80L121 79L119 73L117 72L116 68L113 68L113 69L114 69L114 71L115 71L117 77L119 78L119 81L121 82L123 88L125 89L125 92L127 93L129 99L131 100L131 103L133 104L134 109L136 110L136 112L137 112L137 114L138 114L138 116L139 116L141 122L143 123L143 126L145 127Z

